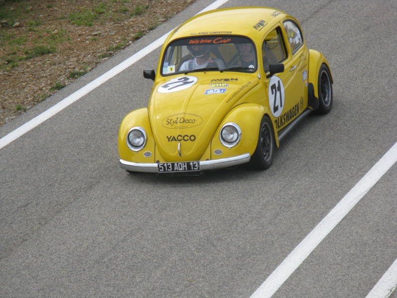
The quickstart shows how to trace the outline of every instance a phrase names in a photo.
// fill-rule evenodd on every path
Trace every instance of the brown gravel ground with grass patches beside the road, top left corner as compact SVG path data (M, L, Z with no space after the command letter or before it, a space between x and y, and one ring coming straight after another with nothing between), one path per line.
M0 126L194 0L0 0Z

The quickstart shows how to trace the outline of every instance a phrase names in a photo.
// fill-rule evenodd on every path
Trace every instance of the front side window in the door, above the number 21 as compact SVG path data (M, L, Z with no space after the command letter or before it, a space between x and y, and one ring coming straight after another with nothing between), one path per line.
M269 64L277 64L287 58L281 28L275 28L265 37L265 41L262 44L262 55L265 72L269 71Z

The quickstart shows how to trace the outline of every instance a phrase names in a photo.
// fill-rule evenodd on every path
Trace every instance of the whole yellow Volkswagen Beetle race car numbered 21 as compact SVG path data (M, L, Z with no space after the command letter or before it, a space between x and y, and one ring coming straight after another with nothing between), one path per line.
M266 169L274 150L309 113L330 112L328 61L309 50L295 18L267 7L198 14L169 34L147 108L119 130L130 172L198 175L250 162Z

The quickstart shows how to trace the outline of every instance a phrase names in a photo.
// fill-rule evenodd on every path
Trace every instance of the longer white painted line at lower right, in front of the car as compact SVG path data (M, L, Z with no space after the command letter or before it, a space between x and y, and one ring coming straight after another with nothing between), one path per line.
M251 298L270 298L302 264L309 254L349 213L362 197L397 161L397 143L369 170L344 196L331 212L318 224L284 261L270 274Z

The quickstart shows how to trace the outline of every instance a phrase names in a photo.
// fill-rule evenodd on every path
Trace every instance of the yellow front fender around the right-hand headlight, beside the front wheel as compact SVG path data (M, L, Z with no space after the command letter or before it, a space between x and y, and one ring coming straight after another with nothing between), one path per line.
M265 113L267 113L267 110L264 106L253 103L243 103L230 110L212 138L210 144L211 160L238 156L247 152L252 155L257 147L259 127ZM240 142L230 149L224 146L219 139L220 130L229 122L236 123L241 129ZM219 154L219 149L222 152L221 154Z

